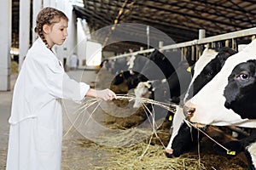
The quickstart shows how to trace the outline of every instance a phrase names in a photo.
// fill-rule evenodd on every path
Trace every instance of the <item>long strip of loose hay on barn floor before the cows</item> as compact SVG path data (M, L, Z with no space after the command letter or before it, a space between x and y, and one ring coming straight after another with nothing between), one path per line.
M101 74L103 73L104 72ZM103 77L108 78L108 75L103 74L99 79ZM126 91L125 88L115 88L116 91L122 93ZM131 105L128 100L119 99L113 101L113 105L118 106L120 109L124 108L120 114L125 115L126 111L126 115L129 115L129 107ZM104 121L105 125L108 128L121 129L124 131L123 134L110 139L109 135L105 136L104 133L102 133L102 144L88 142L86 139L76 140L78 150L95 150L96 153L108 153L108 156L102 157L100 161L93 164L93 168L91 169L247 169L247 166L238 158L230 159L212 154L212 141L208 140L204 140L205 144L201 144L200 154L198 154L198 150L195 149L178 158L167 158L165 155L165 146L170 139L168 127L165 130L151 128L151 132L143 130L142 128L136 129L135 127L137 127L137 125L148 118L144 115L145 110L141 108L135 112L130 111L133 113L131 116L119 117L119 115L115 113L119 111L115 111L116 109L114 110L111 107L108 107L108 109L113 115L107 115ZM133 141L138 139L138 137L142 139L140 142ZM124 144L125 147L113 147L115 144ZM85 161L85 159L88 159L88 157L80 157L79 161ZM73 160L68 160L68 162L73 162Z

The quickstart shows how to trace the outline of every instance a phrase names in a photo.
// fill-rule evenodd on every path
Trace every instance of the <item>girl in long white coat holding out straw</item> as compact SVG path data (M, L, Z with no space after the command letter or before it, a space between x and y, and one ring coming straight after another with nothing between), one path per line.
M84 95L116 98L113 91L92 89L64 72L53 46L65 41L67 21L67 16L55 8L43 8L38 14L38 40L28 50L15 83L7 170L61 169L61 99L81 101Z

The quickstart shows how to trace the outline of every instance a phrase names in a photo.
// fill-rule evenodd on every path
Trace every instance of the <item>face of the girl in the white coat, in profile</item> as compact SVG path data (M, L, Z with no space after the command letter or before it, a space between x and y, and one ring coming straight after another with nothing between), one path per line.
M61 45L67 37L67 20L61 19L60 22L52 26L44 25L45 38L48 42L49 48L55 44Z

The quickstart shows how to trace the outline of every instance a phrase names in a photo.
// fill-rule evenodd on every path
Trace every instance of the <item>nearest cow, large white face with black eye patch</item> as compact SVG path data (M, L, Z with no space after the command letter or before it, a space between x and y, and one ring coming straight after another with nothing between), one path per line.
M183 112L189 121L198 126L235 125L255 128L255 60L256 41L227 59L216 77L185 103ZM241 147L241 151L247 154L249 168L256 168L255 129L250 137L225 145L232 150Z

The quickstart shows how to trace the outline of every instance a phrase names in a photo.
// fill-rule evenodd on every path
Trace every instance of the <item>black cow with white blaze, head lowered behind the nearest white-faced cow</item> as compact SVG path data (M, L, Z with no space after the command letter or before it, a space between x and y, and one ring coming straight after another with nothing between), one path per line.
M206 48L200 59L195 63L194 76L189 84L189 89L183 102L197 94L207 82L210 82L215 77L218 71L221 70L228 59L236 51L230 48L220 48L216 50ZM169 144L166 147L166 156L180 156L183 152L190 150L197 143L197 130L190 128L183 122L185 116L183 115L183 103L177 107L177 112L173 118L172 136ZM191 138L191 136L193 138Z

